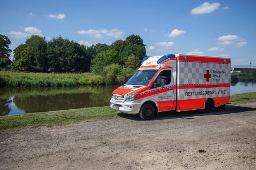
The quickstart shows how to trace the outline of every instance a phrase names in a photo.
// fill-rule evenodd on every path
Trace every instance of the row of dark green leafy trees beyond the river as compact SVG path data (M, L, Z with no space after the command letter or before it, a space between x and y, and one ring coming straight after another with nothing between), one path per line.
M3 35L1 35L3 36ZM5 39L8 37L5 36ZM2 50L10 56L8 39ZM1 44L1 46L3 46ZM45 37L32 35L14 50L12 69L35 72L92 71L102 75L104 68L116 64L121 68L138 68L146 55L143 39L137 35L117 40L111 45L81 45L61 36L46 41Z

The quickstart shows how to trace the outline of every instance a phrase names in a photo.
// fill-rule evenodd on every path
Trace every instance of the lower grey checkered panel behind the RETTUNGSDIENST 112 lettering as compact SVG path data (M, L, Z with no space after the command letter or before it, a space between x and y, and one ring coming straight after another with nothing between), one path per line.
M208 92L215 91L214 94L196 95L196 92ZM186 92L190 92L190 95L186 95ZM192 93L191 93L192 92ZM195 92L195 93L194 93ZM212 98L212 97L225 97L230 95L229 87L219 88L187 88L178 90L178 100L186 99L201 99L201 98Z

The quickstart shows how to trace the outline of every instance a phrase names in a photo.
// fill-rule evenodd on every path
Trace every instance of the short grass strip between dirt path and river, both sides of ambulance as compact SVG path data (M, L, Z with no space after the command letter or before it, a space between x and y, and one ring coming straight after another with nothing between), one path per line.
M231 104L254 101L256 101L256 92L231 95L230 99ZM105 106L0 116L0 129L54 126L82 121L114 119L119 117L118 114L120 114L119 111Z

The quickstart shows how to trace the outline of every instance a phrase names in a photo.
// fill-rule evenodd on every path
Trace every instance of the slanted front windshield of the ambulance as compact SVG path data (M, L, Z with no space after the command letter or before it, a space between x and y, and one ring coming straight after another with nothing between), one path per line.
M126 82L129 85L148 85L158 70L137 70Z

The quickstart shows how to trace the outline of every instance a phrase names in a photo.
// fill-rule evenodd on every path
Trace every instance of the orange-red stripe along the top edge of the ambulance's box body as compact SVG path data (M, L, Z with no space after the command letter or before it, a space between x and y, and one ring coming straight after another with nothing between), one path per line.
M199 61L199 62L209 62L209 63L231 63L230 59L226 59L226 62L223 62L223 58L193 57L193 56L187 56L187 59L183 59L183 56L178 56L177 60L178 61Z

